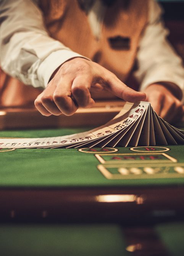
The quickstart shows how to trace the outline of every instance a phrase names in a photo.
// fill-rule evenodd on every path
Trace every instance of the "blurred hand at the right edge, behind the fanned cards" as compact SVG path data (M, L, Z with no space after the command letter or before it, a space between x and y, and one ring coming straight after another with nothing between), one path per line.
M176 122L183 114L182 103L166 86L162 84L151 84L145 91L146 101L149 101L158 116L167 122Z

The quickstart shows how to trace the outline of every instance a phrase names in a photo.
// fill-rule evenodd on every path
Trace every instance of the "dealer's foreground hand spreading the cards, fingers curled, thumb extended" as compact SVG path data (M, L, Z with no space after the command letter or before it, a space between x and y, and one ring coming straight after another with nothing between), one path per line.
M99 64L77 57L61 65L47 88L35 100L35 106L44 116L61 113L71 116L78 107L94 104L90 89L105 89L129 102L144 101L146 97L144 92L129 88Z

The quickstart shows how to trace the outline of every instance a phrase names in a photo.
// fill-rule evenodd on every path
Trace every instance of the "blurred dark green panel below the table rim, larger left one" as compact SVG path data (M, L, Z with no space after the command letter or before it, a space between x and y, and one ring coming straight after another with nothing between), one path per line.
M116 225L0 225L2 256L128 256Z

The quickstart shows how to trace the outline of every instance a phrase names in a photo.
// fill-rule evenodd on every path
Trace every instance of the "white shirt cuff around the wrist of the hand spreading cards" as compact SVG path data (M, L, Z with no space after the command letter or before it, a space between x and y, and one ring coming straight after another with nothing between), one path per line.
M70 50L58 50L51 53L47 58L44 59L37 70L40 86L46 88L48 81L54 71L65 61L75 57L81 57L90 60L89 58L86 58Z

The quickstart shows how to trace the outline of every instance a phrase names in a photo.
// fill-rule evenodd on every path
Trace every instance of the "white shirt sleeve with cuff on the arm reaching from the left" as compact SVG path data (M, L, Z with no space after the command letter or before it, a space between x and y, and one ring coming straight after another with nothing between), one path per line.
M0 0L0 66L24 84L45 88L65 61L83 57L51 38L31 0Z

